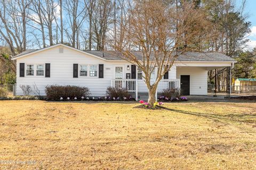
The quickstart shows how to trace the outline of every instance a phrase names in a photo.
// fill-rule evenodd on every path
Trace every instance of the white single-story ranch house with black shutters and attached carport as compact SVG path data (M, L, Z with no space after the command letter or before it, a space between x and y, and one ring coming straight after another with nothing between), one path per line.
M145 98L148 92L138 67L108 51L83 51L57 44L26 50L12 60L17 61L16 95L23 95L21 85L33 89L35 84L42 96L50 84L85 86L95 97L105 96L109 86L126 88L137 100ZM207 71L230 67L234 62L217 52L182 54L159 83L158 95L166 88L181 89L182 95L207 95ZM152 78L154 81L154 73Z

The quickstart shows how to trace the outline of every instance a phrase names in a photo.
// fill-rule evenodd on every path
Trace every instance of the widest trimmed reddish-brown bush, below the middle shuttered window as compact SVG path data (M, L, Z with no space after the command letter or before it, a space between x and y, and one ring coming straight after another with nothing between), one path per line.
M49 85L45 87L47 100L79 100L90 95L87 87Z

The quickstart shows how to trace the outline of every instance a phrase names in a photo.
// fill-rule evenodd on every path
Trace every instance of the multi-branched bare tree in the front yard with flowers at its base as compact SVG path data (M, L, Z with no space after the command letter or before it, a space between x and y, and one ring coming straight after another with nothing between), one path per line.
M117 41L117 45L114 39L111 41L111 46L122 54L119 56L137 65L145 73L150 105L156 101L159 81L171 69L176 58L194 49L198 38L206 41L210 37L206 29L210 29L211 24L206 20L205 12L195 8L193 3L182 5L182 11L177 13L175 4L166 5L153 0L135 1L129 10L129 27L123 27L124 34L119 35L123 41ZM189 34L185 36L186 32ZM132 52L139 48L141 56ZM156 78L152 83L151 73L155 69Z

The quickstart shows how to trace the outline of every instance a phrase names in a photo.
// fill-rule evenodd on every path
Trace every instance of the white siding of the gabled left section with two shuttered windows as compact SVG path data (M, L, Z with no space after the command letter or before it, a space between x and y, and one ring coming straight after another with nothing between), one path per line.
M63 53L59 53L59 47L54 47L42 52L32 54L26 57L18 58L17 60L17 95L23 95L20 85L29 85L34 91L34 85L40 90L42 96L45 94L45 86L58 84L61 86L83 86L88 87L91 96L105 96L107 87L111 86L111 79L115 79L115 66L125 66L127 62L106 62L99 58L86 55L76 50L64 48ZM25 63L25 77L19 77L19 63ZM26 77L26 64L51 63L51 77L45 78L42 76L27 76ZM73 63L78 63L78 78L73 78ZM79 76L79 65L87 65L87 77ZM104 64L104 78L99 79L99 64ZM90 65L97 66L97 77L90 77ZM45 68L44 68L45 70ZM126 69L125 69L126 70ZM123 70L124 71L124 70ZM35 73L35 71L34 71ZM31 93L31 95L36 95Z

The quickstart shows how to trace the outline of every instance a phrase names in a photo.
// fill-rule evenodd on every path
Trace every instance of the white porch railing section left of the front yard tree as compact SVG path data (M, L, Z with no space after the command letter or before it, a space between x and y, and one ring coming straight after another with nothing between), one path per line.
M111 87L125 88L128 92L136 92L135 79L113 79L111 80Z

